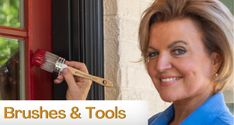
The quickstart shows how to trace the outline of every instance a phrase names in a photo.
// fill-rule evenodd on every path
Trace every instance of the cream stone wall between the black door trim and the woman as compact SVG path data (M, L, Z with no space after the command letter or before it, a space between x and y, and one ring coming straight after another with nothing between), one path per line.
M143 62L138 27L152 0L104 0L105 77L114 82L105 89L107 100L146 100L149 115L164 110Z

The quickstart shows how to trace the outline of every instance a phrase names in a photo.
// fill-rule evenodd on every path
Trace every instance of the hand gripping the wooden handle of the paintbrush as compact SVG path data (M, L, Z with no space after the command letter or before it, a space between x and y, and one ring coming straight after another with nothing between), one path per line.
M84 63L76 61L66 61L70 67L79 69L88 73L88 69ZM67 82L68 89L66 92L67 99L85 100L87 98L92 81L81 77L73 76L68 68L65 68L60 75L54 80L54 83L59 84L63 80Z

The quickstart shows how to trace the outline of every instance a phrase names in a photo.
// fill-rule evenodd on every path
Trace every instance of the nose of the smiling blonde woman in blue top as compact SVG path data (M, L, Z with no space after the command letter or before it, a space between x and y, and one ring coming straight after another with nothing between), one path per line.
M170 57L167 55L160 55L157 59L156 69L159 72L163 72L172 67Z

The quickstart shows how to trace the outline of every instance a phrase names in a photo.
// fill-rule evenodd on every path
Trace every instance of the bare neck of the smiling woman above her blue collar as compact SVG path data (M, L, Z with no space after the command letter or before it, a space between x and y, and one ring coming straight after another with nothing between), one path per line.
M173 103L175 114L174 119L170 125L179 125L186 117L188 117L196 108L205 102L211 95L212 90L206 90L201 94L195 95L184 100L176 101Z

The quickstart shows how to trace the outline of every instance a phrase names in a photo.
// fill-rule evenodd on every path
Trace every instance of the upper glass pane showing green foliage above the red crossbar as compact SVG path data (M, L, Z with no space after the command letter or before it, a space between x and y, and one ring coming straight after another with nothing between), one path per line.
M0 0L0 25L23 27L23 0Z

